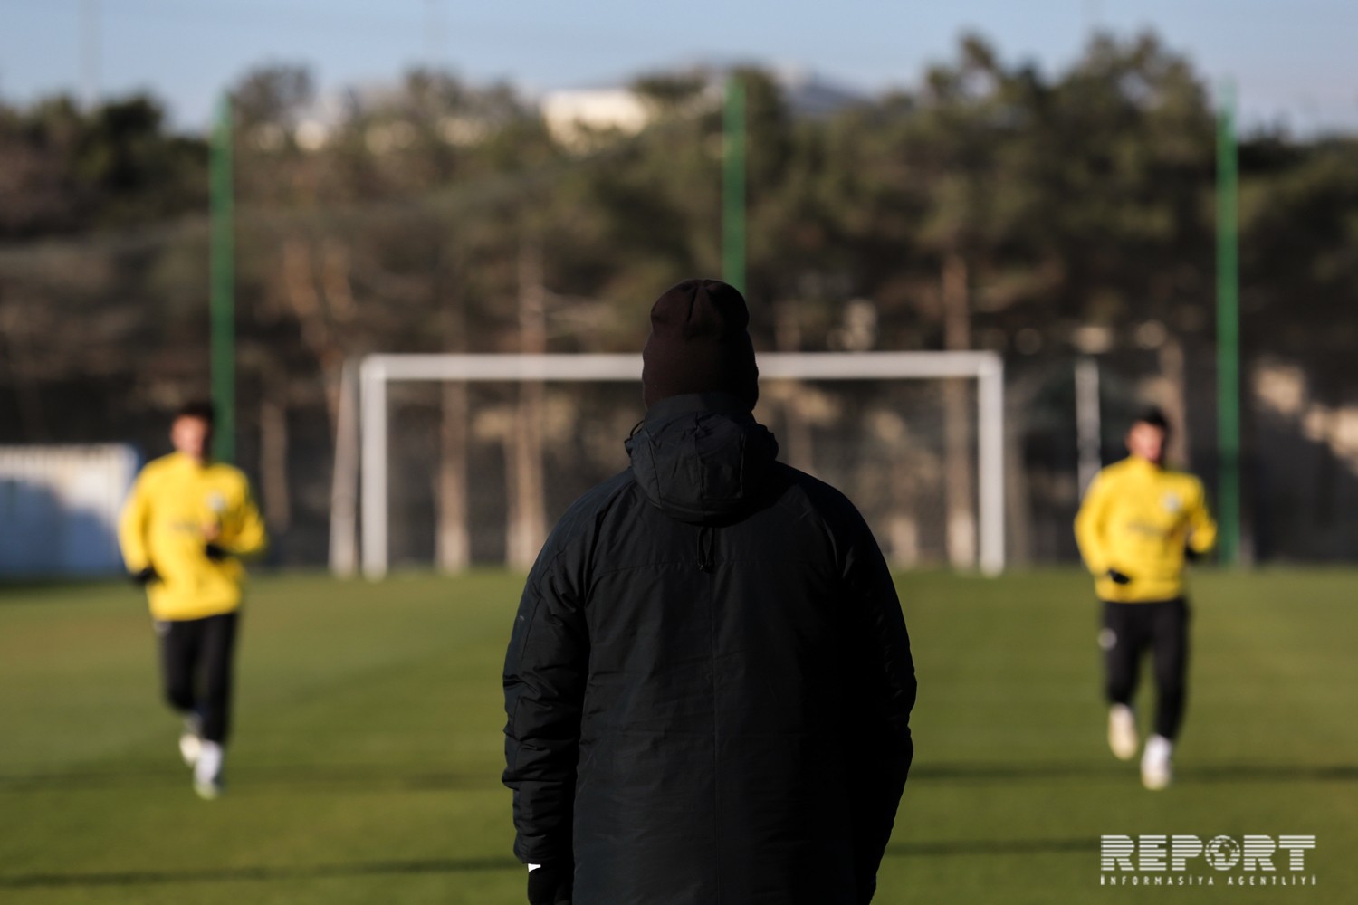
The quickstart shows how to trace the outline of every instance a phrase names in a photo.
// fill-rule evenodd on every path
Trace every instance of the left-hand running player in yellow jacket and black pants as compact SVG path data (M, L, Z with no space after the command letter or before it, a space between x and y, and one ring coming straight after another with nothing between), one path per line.
M221 792L240 559L268 543L246 476L208 457L212 425L210 403L175 414L175 452L141 469L118 524L124 562L151 601L166 697L183 716L179 752L202 798Z

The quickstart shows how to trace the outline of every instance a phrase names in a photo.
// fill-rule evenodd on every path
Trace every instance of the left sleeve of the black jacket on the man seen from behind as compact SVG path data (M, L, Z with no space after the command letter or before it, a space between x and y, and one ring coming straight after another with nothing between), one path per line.
M505 772L515 855L570 863L580 715L589 663L584 585L572 551L551 541L528 575L505 655ZM579 554L577 554L579 555Z

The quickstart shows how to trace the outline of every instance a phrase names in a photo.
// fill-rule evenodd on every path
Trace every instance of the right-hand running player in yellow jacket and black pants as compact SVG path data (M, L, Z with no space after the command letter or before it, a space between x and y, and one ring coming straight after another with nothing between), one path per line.
M1127 433L1126 459L1095 478L1076 516L1076 540L1103 601L1108 693L1108 746L1120 760L1137 754L1131 696L1141 655L1156 666L1156 731L1146 739L1141 779L1164 788L1172 777L1173 742L1183 720L1188 666L1184 560L1211 550L1217 524L1202 482L1165 468L1169 425L1143 412Z

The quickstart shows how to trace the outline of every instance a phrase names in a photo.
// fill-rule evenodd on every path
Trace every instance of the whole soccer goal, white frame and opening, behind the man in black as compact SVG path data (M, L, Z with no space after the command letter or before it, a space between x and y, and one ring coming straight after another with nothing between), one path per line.
M340 418L331 567L361 562L369 578L527 567L566 506L626 468L644 415L634 354L378 354L357 385ZM759 387L779 459L843 490L895 564L1004 569L998 355L763 353Z

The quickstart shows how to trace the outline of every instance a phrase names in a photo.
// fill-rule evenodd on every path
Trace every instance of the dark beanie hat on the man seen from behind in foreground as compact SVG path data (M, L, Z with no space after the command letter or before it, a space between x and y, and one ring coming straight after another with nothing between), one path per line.
M661 399L724 391L755 407L759 369L750 343L750 309L735 286L684 280L650 308L650 338L641 351L641 395Z

